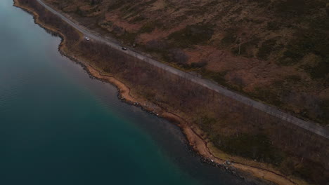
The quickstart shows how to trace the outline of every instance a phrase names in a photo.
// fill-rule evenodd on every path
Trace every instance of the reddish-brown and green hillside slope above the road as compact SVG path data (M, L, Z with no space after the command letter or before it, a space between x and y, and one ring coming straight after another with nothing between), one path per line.
M159 60L328 125L326 0L46 1Z

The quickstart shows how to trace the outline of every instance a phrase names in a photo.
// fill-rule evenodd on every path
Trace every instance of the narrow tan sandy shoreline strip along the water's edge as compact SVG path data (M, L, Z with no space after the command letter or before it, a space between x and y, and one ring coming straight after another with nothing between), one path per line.
M134 97L134 95L131 95L131 88L129 88L129 86L125 85L124 83L122 83L122 81L115 78L115 76L102 74L98 69L96 69L96 67L91 66L91 64L88 64L88 62L85 62L82 58L73 57L72 55L70 55L70 51L67 50L67 48L65 47L65 35L60 33L59 30L53 29L51 26L42 24L38 20L39 15L35 11L20 5L17 0L13 0L13 1L14 1L14 6L21 8L22 10L27 11L28 13L31 13L34 18L34 22L37 25L48 30L49 32L53 32L55 34L58 34L58 36L60 36L61 42L58 46L58 50L61 55L64 55L65 57L68 57L70 60L75 61L78 64L82 65L82 67L87 71L87 73L92 78L97 78L98 80L105 81L111 83L112 85L115 85L115 87L118 90L118 97L120 98L120 100L128 104L141 107L143 110L148 111L151 114L160 116L178 125L179 128L181 128L183 134L186 136L188 144L192 146L193 150L195 150L196 153L202 156L201 158L202 162L209 163L209 165L222 167L225 170L228 170L228 172L231 172L232 174L236 174L237 177L243 179L245 179L245 177L241 176L240 174L237 174L237 172L235 171L236 169L238 171L243 172L243 174L247 172L248 173L247 176L252 175L252 177L257 177L259 179L271 181L276 184L299 184L296 181L292 181L292 179L290 179L289 177L285 177L283 174L280 174L280 172L275 172L272 169L268 170L266 168L245 165L243 163L235 162L234 160L228 162L226 159L214 156L214 153L212 153L212 149L210 149L208 146L210 143L207 142L206 139L202 138L202 136L193 129L195 125L191 125L190 123L186 122L183 118L181 118L181 116L177 114L174 114L169 111L165 111L161 107L158 107L157 105L153 104L153 102L148 102L148 100L144 100L143 98Z

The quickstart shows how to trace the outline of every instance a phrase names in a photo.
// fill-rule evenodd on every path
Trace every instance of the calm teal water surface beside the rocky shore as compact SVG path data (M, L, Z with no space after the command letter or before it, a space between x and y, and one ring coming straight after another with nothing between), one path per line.
M179 128L117 99L0 1L0 184L243 184L200 163Z

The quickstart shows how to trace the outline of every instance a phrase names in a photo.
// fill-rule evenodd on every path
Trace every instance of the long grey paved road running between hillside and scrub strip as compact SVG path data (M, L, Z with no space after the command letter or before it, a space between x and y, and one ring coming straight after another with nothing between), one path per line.
M138 54L138 53L134 52L133 50L122 50L122 46L120 46L119 44L114 43L113 41L109 41L108 39L105 39L102 36L98 36L95 33L90 32L86 28L84 28L80 25L77 25L75 22L72 22L72 20L70 20L69 18L58 13L50 6L44 4L43 1L41 1L41 0L37 0L37 1L39 2L39 4L44 6L46 9L51 11L53 14L58 15L58 17L60 17L62 20L67 22L72 27L75 27L75 29L77 29L79 32L82 32L82 34L84 34L85 36L88 36L90 39L92 39L94 41L101 41L103 43L106 43L106 44L108 44L108 46L115 48L116 50L120 50L121 52L126 53L127 55L131 55L132 57L136 57L139 60L142 60L143 62L147 62L148 64L152 64L155 67L164 69L165 71L169 71L172 74L176 74L177 76L181 76L183 78L189 79L189 80L193 81L194 83L202 85L205 88L214 90L217 93L220 93L221 95L225 95L226 97L231 97L232 99L237 100L238 102L242 102L243 104L253 107L254 109L264 111L267 114L270 114L271 116L276 116L277 118L280 118L283 121L287 121L288 123L292 123L294 125L299 126L300 128L309 130L310 132L313 132L316 135L320 135L322 137L329 139L329 130L321 127L320 125L317 125L316 123L312 123L311 121L304 121L300 118L297 118L297 117L287 114L283 111L280 111L280 110L276 109L275 107L272 107L268 104L264 104L262 102L257 102L255 100L250 99L249 97L245 97L236 92L228 90L227 88L224 88L223 86L218 85L217 83L214 83L214 82L209 81L204 78L200 78L198 76L193 76L192 74L188 74L188 73L181 71L179 69L176 69L174 67L170 67L166 64L163 64L162 62L153 60L150 57L146 57L144 55Z

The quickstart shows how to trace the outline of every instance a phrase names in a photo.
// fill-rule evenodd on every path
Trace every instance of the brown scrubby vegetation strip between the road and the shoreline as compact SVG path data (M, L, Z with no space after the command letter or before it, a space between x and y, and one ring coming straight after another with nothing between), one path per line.
M315 184L329 181L328 139L124 55L105 43L79 40L75 29L36 1L18 1L34 8L41 22L60 30L70 53L134 87L134 94L198 125L222 151L271 163L284 174Z

